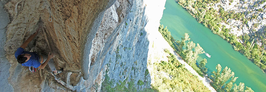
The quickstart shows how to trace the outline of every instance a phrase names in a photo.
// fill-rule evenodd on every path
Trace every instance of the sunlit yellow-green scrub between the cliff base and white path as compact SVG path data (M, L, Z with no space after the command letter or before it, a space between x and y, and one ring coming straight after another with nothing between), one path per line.
M187 70L176 57L165 50L168 61L154 63L154 70L166 72L169 76L155 76L153 87L160 92L210 92L197 76Z

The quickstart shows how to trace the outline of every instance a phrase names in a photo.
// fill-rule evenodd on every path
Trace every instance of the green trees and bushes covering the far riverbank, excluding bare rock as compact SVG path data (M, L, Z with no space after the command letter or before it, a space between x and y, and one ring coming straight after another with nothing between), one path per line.
M233 0L231 0L233 2ZM251 17L246 18L247 14L251 12L235 12L234 10L224 11L224 9L218 5L219 11L211 8L214 4L220 2L220 0L177 0L177 2L187 9L199 22L203 23L206 27L210 28L213 33L217 33L223 39L231 43L235 50L243 53L254 64L259 66L264 72L266 72L266 29L262 31L250 30L252 34L244 34L236 37L236 35L230 34L230 29L223 27L220 22L226 22L228 19L240 20L243 24L247 25L248 21L257 19L260 12L264 12L263 9L257 9ZM266 2L262 0L254 3L253 7L257 7L259 4ZM190 7L191 6L191 7ZM265 8L266 5L263 7ZM247 9L247 7L245 7ZM227 22L226 22L227 23ZM254 28L257 28L258 24L253 24ZM243 43L240 43L242 40ZM258 44L261 44L259 46Z

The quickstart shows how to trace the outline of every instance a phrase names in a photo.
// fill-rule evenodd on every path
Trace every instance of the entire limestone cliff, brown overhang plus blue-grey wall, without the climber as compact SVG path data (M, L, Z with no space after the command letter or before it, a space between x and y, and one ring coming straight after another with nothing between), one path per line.
M149 75L144 75L149 41L142 0L4 0L1 4L10 21L1 43L5 56L1 66L6 66L1 71L9 69L5 72L9 76L1 73L1 82L8 81L2 90L100 91L105 74L115 82L133 79L136 85L142 80L145 85L140 88L150 86ZM56 53L56 68L64 68L56 75L58 80L49 67L30 73L14 57L38 26L38 35L25 50Z

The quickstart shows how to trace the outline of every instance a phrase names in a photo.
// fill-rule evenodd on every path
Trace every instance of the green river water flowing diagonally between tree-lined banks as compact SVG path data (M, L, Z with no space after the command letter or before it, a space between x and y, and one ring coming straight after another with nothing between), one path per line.
M255 92L266 91L266 74L257 65L235 51L232 45L219 35L197 22L175 0L166 0L165 7L160 24L167 26L176 40L181 40L182 35L188 33L190 41L199 43L204 51L211 55L211 58L208 58L205 54L201 54L198 58L198 61L207 59L208 75L215 70L217 64L220 64L222 70L227 66L235 72L235 76L239 77L235 82L237 85L242 82Z

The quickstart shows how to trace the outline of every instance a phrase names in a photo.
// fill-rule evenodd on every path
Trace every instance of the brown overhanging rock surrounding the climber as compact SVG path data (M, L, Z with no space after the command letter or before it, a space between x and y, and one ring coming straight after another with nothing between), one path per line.
M77 84L83 75L81 66L83 65L84 45L88 42L88 38L95 36L87 34L97 32L95 28L100 25L100 22L97 21L101 21L103 13L113 3L114 0L7 1L4 8L9 14L10 22L6 27L4 50L8 62L11 64L8 81L14 90L40 91L46 89L56 91L72 89L74 91L75 88L71 88L72 85ZM51 7L52 22L48 21L49 7ZM56 68L64 68L65 70L58 75L58 78L62 76L59 80L61 83L54 79L48 67L30 73L27 67L22 67L14 58L14 52L36 31L38 26L41 27L38 35L25 50L30 51L35 47L34 51L40 54L47 55L48 52L55 52L56 58L53 60Z

